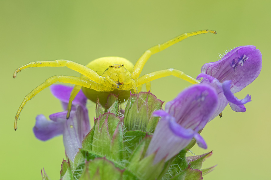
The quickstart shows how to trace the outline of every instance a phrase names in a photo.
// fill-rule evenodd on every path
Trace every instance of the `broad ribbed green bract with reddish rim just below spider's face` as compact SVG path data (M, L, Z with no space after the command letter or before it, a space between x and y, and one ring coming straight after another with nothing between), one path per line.
M125 107L124 128L127 131L140 130L153 133L159 117L152 116L164 102L150 92L131 94Z

